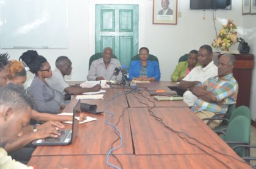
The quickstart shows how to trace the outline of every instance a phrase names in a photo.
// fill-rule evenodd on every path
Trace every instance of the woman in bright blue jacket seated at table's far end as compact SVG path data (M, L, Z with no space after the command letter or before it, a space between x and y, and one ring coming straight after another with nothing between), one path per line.
M148 60L149 49L140 48L140 60L130 62L129 80L159 81L160 69L157 61Z

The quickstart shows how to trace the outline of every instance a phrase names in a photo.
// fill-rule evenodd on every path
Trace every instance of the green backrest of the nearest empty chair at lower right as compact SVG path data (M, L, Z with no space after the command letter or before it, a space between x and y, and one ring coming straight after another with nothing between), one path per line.
M224 136L224 141L229 144L230 147L235 145L241 145L241 143L249 145L251 137L251 120L247 117L239 115L236 116L232 122L227 126L227 133ZM241 143L229 143L229 142L241 142ZM240 157L247 155L248 148L240 147L235 148L236 154Z

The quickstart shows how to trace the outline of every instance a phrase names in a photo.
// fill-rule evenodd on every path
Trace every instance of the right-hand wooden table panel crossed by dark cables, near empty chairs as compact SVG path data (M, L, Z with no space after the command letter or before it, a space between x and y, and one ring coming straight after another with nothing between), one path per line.
M165 128L159 120L151 116L148 108L129 108L136 155L214 153L205 145L214 147L216 151L235 155L189 108L153 108L151 111L171 129Z

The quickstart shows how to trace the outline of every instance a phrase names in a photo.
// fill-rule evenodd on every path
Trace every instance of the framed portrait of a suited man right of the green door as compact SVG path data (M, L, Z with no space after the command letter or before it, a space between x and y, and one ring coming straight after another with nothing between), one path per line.
M153 24L176 25L177 0L153 0Z

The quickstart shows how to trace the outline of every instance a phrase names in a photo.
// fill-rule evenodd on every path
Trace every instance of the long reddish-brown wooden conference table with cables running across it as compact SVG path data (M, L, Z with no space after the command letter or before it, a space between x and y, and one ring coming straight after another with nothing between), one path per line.
M98 105L97 120L79 125L71 145L40 146L28 165L36 168L250 168L188 105L157 101L149 90L177 84L140 83L135 88L105 88L103 100L81 100ZM76 97L65 108L72 112ZM118 128L118 132L111 125ZM110 151L113 148L116 150ZM109 163L109 165L107 164Z

